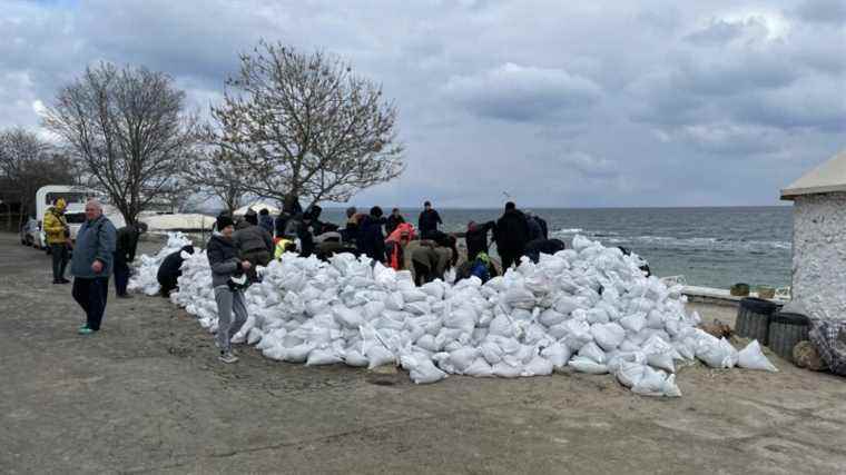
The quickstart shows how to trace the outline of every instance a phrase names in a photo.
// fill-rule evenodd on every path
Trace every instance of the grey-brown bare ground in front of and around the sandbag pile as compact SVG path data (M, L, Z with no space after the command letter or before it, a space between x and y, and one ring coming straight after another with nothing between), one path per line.
M683 367L678 399L570 373L415 386L246 347L224 366L168 300L112 298L79 337L45 255L0 234L0 261L3 473L846 472L844 379L777 357L778 374Z

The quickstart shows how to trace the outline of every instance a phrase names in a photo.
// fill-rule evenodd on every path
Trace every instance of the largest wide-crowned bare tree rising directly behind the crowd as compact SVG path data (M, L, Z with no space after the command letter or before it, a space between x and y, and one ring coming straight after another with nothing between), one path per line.
M396 107L334 56L262 41L226 85L214 139L257 196L342 202L403 170Z

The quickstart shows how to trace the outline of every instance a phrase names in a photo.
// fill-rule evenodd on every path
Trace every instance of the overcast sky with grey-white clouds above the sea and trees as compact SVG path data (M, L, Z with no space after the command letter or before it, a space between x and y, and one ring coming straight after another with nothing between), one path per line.
M407 169L357 205L775 205L846 148L842 0L0 0L0 127L99 60L207 110L260 38L399 105Z

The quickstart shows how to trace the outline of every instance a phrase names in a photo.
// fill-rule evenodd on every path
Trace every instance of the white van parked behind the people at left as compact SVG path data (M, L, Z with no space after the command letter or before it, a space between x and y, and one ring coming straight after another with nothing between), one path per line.
M65 199L65 202L67 204L65 219L68 220L68 226L70 227L71 240L77 239L77 232L79 232L82 222L86 221L86 201L89 198L97 198L101 202L104 201L102 194L85 187L72 185L48 185L39 188L38 191L36 191L36 219L38 219L39 236L32 244L36 248L47 248L47 237L43 231L42 220L47 209L56 205L56 201L59 198ZM114 207L104 204L102 212L111 220L116 228L124 226L124 217L120 216Z

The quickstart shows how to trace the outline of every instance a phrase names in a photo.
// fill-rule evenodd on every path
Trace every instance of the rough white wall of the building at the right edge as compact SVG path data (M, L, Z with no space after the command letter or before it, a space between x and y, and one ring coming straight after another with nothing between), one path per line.
M846 319L846 192L794 201L793 298L813 317Z

